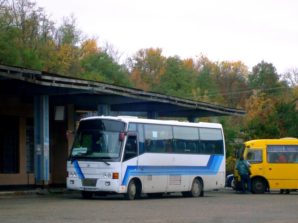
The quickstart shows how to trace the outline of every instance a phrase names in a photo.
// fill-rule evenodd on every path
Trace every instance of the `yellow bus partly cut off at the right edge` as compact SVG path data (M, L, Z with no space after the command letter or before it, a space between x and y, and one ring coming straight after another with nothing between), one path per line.
M297 138L248 141L235 150L235 164L240 156L252 165L250 177L253 194L270 193L270 189L298 188ZM235 168L234 187L236 191L241 188L240 176Z

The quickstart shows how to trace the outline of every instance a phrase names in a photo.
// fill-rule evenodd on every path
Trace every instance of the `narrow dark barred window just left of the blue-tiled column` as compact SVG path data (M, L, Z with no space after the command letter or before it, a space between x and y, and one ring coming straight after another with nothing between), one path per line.
M26 118L26 173L34 173L34 121Z

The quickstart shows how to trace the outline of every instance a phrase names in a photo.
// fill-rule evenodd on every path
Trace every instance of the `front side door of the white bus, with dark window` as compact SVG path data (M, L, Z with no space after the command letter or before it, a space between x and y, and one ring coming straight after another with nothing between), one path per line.
M139 170L139 149L138 133L129 133L122 160L122 183L128 184L129 178L134 175L134 171Z

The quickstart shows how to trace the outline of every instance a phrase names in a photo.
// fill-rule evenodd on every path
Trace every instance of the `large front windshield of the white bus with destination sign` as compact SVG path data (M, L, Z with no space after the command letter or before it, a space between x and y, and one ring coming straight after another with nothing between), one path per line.
M96 120L81 121L77 131L69 158L84 159L118 159L122 142L119 133L124 130L125 124L119 121ZM82 124L81 124L82 123Z

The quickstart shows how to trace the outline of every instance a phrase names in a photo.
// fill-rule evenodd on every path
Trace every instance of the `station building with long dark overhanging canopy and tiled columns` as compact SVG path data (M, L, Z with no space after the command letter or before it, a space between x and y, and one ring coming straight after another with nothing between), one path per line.
M0 191L66 185L81 118L245 116L246 111L0 64Z

